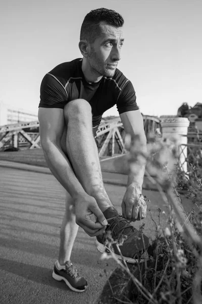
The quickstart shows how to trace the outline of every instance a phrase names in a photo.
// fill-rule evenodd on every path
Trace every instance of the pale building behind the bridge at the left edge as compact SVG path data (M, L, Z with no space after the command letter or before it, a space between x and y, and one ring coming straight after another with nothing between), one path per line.
M37 115L18 108L12 108L11 106L7 106L3 101L0 101L0 126L37 120Z

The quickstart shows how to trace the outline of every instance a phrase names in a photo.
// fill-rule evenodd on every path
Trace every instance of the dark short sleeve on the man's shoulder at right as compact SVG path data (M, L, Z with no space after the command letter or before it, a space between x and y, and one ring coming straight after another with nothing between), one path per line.
M125 84L118 96L117 109L119 111L119 114L139 109L136 103L135 90L130 81Z

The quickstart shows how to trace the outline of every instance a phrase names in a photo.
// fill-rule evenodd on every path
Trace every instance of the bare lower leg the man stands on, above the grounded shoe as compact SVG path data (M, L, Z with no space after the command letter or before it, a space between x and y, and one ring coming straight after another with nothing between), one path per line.
M66 210L60 231L60 251L58 261L64 265L66 261L70 260L72 247L78 232L78 225L75 221L74 206L72 205L72 198L67 193Z

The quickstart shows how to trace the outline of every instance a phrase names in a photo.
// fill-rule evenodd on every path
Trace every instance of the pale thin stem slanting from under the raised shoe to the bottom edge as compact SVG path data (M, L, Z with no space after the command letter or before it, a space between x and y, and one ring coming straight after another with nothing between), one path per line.
M148 292L146 290L146 288L133 276L133 274L131 274L128 267L125 267L123 265L123 263L120 262L120 260L117 259L116 255L114 254L114 252L109 247L108 247L108 249L110 250L111 256L116 260L116 262L121 266L121 268L123 268L123 270L125 270L127 272L127 274L129 274L129 276L133 280L135 286L137 287L139 292L143 295L143 297L145 297L147 299L147 301L152 300L151 304L158 304L158 302L155 299L153 299L153 296L150 294L150 292Z

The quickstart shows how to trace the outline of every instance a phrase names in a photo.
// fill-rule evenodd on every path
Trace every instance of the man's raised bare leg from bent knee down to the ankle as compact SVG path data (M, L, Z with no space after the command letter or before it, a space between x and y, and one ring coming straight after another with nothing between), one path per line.
M70 101L64 109L67 124L67 152L77 178L86 193L95 198L101 211L113 207L104 187L98 151L92 134L90 104Z

